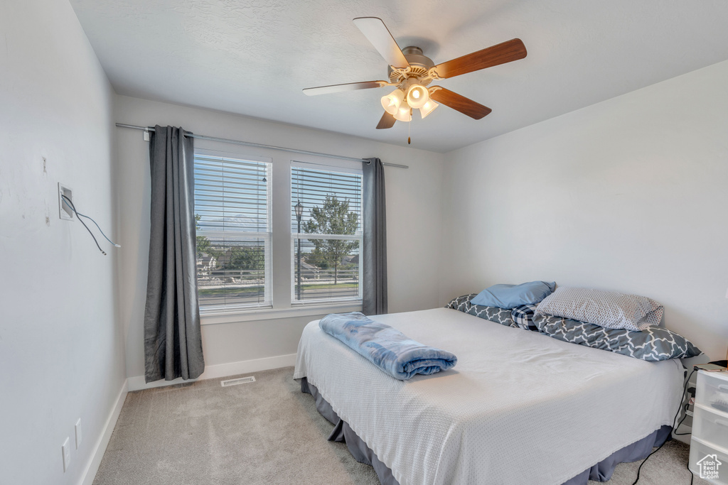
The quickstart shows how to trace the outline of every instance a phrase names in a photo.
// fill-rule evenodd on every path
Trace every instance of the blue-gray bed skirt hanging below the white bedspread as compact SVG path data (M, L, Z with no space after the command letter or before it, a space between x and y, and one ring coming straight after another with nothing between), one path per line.
M357 462L371 465L379 477L382 485L399 485L395 477L392 476L392 470L389 470L387 465L384 465L379 458L376 457L373 451L367 446L367 444L357 436L357 433L349 427L346 421L341 420L339 416L331 408L331 404L321 396L316 386L309 384L306 377L301 379L301 392L309 393L314 396L316 400L316 409L318 412L331 421L333 431L328 437L328 441L338 441L347 444L349 453L357 460ZM588 481L607 481L612 478L614 468L622 462L636 462L643 460L652 452L654 446L660 446L670 438L670 432L672 428L668 425L662 426L662 428L655 430L646 438L642 438L633 444L625 446L624 448L612 453L609 457L606 457L601 462L593 465L591 468L587 468L582 473L579 473L574 478L566 481L563 485L587 485Z

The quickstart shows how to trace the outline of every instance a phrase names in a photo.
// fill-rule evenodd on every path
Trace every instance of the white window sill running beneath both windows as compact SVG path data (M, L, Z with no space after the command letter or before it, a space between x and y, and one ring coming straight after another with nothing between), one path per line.
M202 325L233 324L243 321L274 320L277 318L296 318L299 316L318 316L328 313L361 311L360 301L337 302L329 305L296 305L291 308L264 308L256 310L210 311L200 313Z

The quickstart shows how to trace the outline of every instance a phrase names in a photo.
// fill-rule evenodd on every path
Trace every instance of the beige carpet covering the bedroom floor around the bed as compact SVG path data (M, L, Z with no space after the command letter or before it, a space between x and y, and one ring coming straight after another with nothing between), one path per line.
M326 441L333 426L293 368L251 375L256 382L229 388L213 379L129 393L94 485L379 484L345 444ZM639 483L689 484L687 454L666 444ZM619 465L608 483L632 484L637 465Z

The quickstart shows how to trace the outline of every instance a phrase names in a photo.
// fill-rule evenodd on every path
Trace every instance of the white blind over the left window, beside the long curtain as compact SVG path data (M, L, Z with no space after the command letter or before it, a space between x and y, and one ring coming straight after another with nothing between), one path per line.
M270 165L194 156L197 284L203 310L271 305Z

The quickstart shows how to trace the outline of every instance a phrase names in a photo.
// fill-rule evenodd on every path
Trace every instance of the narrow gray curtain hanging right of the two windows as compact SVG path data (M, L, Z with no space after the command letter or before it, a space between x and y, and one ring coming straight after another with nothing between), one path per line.
M384 198L384 165L380 159L363 163L364 237L362 262L363 313L387 313L387 213Z

